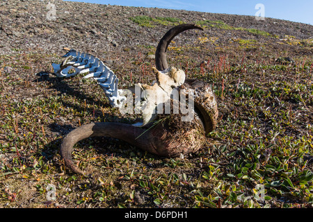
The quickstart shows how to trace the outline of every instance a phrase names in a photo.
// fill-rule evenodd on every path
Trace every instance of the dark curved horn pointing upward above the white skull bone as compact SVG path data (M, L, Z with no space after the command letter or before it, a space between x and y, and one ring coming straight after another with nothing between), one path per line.
M195 24L180 24L171 28L160 40L159 45L157 46L157 51L155 52L155 65L159 71L168 69L168 62L166 61L166 50L172 39L186 31L188 29L197 28L203 31L203 28L196 26Z

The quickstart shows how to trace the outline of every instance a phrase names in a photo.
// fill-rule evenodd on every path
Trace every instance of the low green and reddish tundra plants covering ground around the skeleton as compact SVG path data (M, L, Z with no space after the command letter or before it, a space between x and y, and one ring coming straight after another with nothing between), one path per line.
M169 10L161 12L158 17L125 13L120 21L136 27L123 37L139 33L148 42L118 44L112 46L115 53L105 55L86 46L106 58L125 87L154 80L154 61L147 55L154 54L159 38L152 40L150 33L160 37L186 22ZM58 23L65 31L70 25L64 21L71 20ZM85 139L74 146L72 157L92 172L90 178L65 167L58 151L63 137L86 123L134 123L138 116L111 108L91 79L38 74L52 73L51 62L60 62L63 53L40 46L1 53L0 207L312 207L312 38L200 16L187 22L204 32L175 38L168 60L214 89L220 115L207 145L182 159L152 155L109 137ZM53 28L46 27L45 35ZM81 35L97 35L92 28L83 34L77 28L69 36L81 42ZM44 35L42 30L33 35ZM53 199L47 198L48 185L56 188Z

